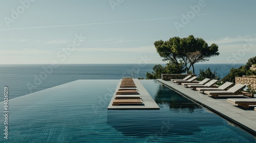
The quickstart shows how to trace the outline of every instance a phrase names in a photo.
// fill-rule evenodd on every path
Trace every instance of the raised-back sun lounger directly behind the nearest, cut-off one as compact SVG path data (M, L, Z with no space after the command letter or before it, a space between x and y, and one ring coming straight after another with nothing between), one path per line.
M236 84L233 87L229 88L228 90L205 90L204 93L211 95L212 97L218 98L219 96L234 96L234 95L239 95L243 94L244 96L250 96L253 97L253 93L248 93L245 91L242 91L243 88L246 85L244 84Z

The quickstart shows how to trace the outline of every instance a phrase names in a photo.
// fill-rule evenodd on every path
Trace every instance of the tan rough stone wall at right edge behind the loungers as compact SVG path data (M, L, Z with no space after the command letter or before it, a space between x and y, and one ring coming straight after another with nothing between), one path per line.
M248 84L248 89L250 92L256 92L256 76L243 76L236 77L236 84Z

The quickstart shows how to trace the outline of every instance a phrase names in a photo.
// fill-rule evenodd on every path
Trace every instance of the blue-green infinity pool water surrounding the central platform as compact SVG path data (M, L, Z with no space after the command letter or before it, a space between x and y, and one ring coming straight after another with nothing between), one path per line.
M8 142L255 142L156 80L140 82L160 110L107 110L118 82L77 80L9 100Z

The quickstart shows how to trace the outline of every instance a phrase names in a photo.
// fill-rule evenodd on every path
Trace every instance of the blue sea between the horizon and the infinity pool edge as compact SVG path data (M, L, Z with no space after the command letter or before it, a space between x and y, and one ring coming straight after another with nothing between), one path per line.
M8 87L9 99L44 90L76 80L111 80L123 77L146 78L156 64L2 64L0 65L0 89ZM165 64L162 64L165 66ZM195 64L195 74L199 69L216 70L220 78L225 77L230 68L245 64ZM4 99L1 98L0 102Z

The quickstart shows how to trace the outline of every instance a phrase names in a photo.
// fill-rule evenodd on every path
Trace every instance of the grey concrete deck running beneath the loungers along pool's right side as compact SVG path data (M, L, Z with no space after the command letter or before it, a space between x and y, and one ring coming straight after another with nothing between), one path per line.
M246 109L227 102L228 98L243 98L242 96L220 97L216 99L197 90L192 90L192 88L186 88L183 85L173 83L172 81L157 80L256 136L256 111L253 110L254 108Z

